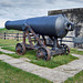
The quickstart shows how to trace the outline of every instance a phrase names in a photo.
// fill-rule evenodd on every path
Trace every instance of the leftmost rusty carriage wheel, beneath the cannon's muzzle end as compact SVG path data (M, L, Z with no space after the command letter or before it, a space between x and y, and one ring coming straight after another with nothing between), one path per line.
M25 45L23 43L18 43L15 45L15 52L20 55L23 55L25 53Z

